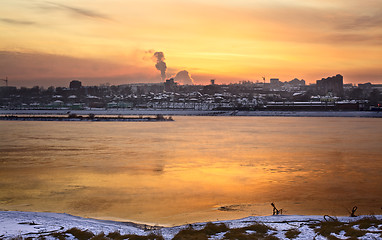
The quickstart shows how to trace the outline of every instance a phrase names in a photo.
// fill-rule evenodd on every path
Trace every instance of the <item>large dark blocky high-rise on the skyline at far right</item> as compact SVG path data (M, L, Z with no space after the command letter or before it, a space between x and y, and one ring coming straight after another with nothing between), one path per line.
M337 74L333 77L322 78L316 81L317 91L320 95L326 95L329 92L335 96L343 96L344 94L344 82L343 76Z

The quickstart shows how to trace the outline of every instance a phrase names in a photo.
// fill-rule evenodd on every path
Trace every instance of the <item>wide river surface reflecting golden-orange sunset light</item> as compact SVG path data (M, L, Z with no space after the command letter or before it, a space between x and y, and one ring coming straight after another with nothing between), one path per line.
M270 202L369 214L382 196L379 121L1 122L0 208L162 224L268 215Z

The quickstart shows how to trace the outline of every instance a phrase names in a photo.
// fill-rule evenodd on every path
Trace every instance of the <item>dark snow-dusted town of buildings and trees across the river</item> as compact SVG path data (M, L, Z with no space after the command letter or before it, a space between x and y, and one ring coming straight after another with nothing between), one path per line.
M178 85L174 79L161 83L119 86L82 86L78 80L70 88L0 86L2 109L195 109L195 110L289 110L346 111L380 110L382 84L343 84L341 75L305 85L293 79L271 83L241 81L209 85ZM280 85L276 87L277 85ZM320 90L320 92L318 91Z

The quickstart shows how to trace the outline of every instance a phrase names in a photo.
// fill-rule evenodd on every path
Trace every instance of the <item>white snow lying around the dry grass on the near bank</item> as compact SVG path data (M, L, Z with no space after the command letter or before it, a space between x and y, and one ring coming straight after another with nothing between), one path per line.
M364 218L359 216L351 217L338 217L337 219L343 223L354 222ZM382 215L374 216L379 225L368 227L365 230L365 235L358 239L381 239L382 234ZM327 218L328 219L328 218ZM326 221L323 216L298 216L298 215L279 215L279 216L252 216L238 220L219 221L215 223L224 223L229 229L243 228L254 223L264 223L266 226L272 228L272 236L278 239L288 239L285 233L289 229L297 229L300 234L296 239L326 239L318 235L310 224L320 223ZM205 227L206 223L192 224L193 229L199 230ZM24 238L38 236L49 236L50 233L64 232L71 228L78 228L81 230L89 230L94 234L101 232L108 234L118 231L120 234L134 234L134 235L148 235L155 233L163 236L164 239L172 239L180 230L189 227L190 225L183 225L177 227L157 227L154 230L145 230L144 225L138 225L129 222L115 222L96 220L90 218L81 218L62 213L41 213L41 212L13 212L13 211L0 211L0 239L12 238L21 236ZM358 225L353 226L358 229ZM249 231L250 232L250 231ZM216 234L210 239L222 239L224 233ZM344 232L339 234L332 234L339 239L347 239ZM51 237L53 239L53 237ZM49 237L48 237L49 239Z

